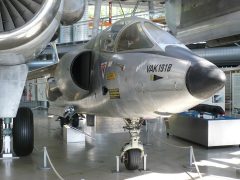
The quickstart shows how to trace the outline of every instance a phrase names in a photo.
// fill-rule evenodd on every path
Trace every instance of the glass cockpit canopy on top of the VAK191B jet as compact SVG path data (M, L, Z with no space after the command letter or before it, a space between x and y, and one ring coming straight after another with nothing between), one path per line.
M131 17L109 27L100 37L100 51L120 52L153 47L165 50L168 45L181 44L175 37L148 20ZM181 44L182 45L182 44Z

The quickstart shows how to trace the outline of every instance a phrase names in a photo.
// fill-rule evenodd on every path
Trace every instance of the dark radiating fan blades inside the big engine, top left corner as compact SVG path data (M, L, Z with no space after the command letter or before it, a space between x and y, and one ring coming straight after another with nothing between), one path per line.
M45 0L0 0L0 33L17 29L29 22Z

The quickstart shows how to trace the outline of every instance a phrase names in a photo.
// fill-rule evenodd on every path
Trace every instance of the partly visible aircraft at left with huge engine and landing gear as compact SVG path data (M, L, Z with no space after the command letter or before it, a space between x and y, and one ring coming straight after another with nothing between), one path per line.
M19 108L28 74L26 63L49 44L60 21L64 25L73 24L81 19L84 10L85 0L0 0L0 135L5 142L3 157L10 157L11 135L17 156L28 155L33 150L32 111ZM5 125L3 131L2 121Z

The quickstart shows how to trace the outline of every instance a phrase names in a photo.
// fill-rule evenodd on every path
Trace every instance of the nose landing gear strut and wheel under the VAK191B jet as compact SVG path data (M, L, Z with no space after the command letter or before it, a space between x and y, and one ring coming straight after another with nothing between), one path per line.
M122 148L121 161L128 170L136 170L144 156L144 148L140 142L140 128L143 119L125 119L126 126L123 128L129 131L130 142Z

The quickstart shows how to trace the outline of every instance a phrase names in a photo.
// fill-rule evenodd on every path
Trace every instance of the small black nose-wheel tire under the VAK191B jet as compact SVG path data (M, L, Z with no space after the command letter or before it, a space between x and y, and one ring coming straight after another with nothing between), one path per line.
M125 153L124 164L128 170L136 170L141 163L141 151L139 149L130 149Z

